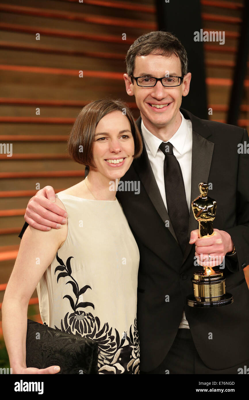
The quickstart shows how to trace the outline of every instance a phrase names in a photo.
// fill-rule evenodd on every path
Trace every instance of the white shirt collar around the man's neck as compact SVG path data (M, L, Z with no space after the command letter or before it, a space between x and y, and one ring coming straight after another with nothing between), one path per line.
M181 112L180 112L181 114ZM187 138L187 122L185 118L183 117L183 114L181 114L181 124L175 134L168 140L172 144L172 146L179 152L180 154L183 153L183 148L185 145L185 141ZM162 142L161 139L157 138L155 135L153 135L147 128L145 128L143 124L143 120L141 120L141 132L143 135L143 139L145 143L147 144L151 154L155 157L157 154L157 150Z

